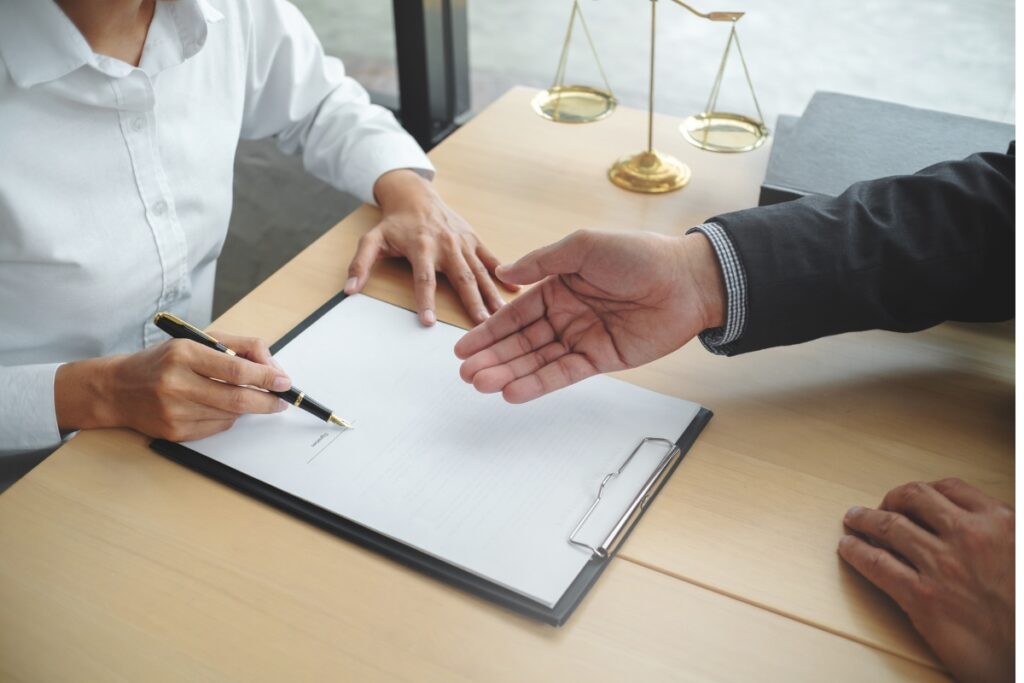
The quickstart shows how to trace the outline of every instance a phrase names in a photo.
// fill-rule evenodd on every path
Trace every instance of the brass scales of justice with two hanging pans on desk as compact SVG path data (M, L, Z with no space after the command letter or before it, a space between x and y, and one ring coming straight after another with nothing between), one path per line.
M725 51L719 63L715 82L712 85L708 103L699 114L687 117L679 126L680 133L687 142L708 152L741 153L760 147L768 138L769 131L765 126L764 115L754 92L754 82L751 80L746 59L739 45L736 34L736 24L744 12L699 12L682 0L672 2L683 7L690 13L710 22L724 22L730 25L729 37L725 43ZM678 159L660 154L654 150L654 45L656 38L657 0L650 0L650 76L647 96L647 147L638 154L621 158L608 169L608 179L626 189L660 194L679 189L690 180L690 169ZM569 44L577 20L583 29L587 43L594 55L604 87L588 85L566 85L565 69L568 62ZM757 118L742 114L717 111L718 96L722 89L722 79L729 59L732 46L735 45L739 62L743 68L743 76L754 100ZM611 92L608 78L601 66L597 48L591 37L587 20L583 15L580 0L572 1L572 11L569 14L569 25L565 32L565 42L562 45L561 56L555 72L554 82L547 90L540 92L532 101L534 111L540 116L558 123L592 123L611 115L617 100Z

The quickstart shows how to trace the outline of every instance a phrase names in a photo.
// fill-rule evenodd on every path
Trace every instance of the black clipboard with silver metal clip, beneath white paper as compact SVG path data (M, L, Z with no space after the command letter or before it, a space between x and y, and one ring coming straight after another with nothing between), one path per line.
M304 330L313 325L334 306L344 300L346 295L339 293L306 317L288 334L274 343L270 350L276 353L289 342L294 340ZM200 454L183 444L157 439L151 447L162 456L180 465L188 467L201 474L251 496L279 510L287 512L314 526L327 530L341 539L355 543L368 550L379 553L404 566L416 569L428 577L441 581L450 586L463 590L477 597L489 600L502 607L519 614L549 624L562 626L580 605L598 578L617 554L623 543L636 528L643 514L650 507L657 494L679 467L697 436L712 418L711 411L701 408L687 428L678 438L670 439L664 436L638 436L636 447L630 454L624 454L618 468L608 472L595 490L594 501L586 514L580 519L573 529L567 529L566 543L585 548L591 552L591 558L575 577L568 589L553 607L537 602L524 595L496 584L480 575L467 571L442 559L429 555L404 543L386 537L351 519L336 514L330 510L309 503L286 490L278 488L256 477L250 476L232 467L224 465L213 458ZM601 494L607 483L633 462L634 456L648 443L665 447L665 455L651 475L644 481L632 502L623 512L611 531L598 545L589 545L579 540L591 515L600 506Z

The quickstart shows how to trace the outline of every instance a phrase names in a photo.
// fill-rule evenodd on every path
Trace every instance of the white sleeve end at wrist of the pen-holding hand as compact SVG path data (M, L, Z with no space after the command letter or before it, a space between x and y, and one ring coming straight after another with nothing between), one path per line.
M59 367L0 367L0 458L60 444L53 398Z

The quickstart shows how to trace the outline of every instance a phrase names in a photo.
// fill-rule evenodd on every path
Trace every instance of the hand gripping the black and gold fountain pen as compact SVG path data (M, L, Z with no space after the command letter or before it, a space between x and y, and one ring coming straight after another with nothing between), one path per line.
M241 357L174 339L130 355L61 366L54 386L57 426L61 432L131 427L184 441L223 431L246 413L288 408L273 394L248 388L284 391L292 385L266 344L215 336Z

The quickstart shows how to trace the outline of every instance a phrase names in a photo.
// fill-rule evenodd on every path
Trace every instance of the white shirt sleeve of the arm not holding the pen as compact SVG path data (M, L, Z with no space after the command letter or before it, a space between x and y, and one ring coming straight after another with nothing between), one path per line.
M370 103L302 13L285 0L250 0L243 138L274 137L302 153L306 170L375 204L374 184L395 169L432 178L434 168L394 116Z

